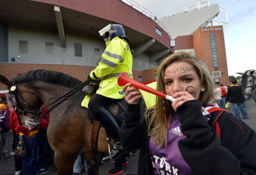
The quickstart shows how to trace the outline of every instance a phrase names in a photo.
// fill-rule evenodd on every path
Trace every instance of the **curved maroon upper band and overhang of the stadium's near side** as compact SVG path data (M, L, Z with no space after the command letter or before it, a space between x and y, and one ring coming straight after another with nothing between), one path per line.
M149 55L157 55L159 50L174 52L170 48L170 35L160 23L120 0L111 3L104 0L0 0L0 4L0 20L7 25L59 30L54 9L59 6L67 32L101 38L98 31L106 25L122 24L131 49L144 44L147 47L143 52ZM113 4L116 7L113 8ZM156 33L156 27L162 30L162 36ZM147 42L152 44L147 45Z

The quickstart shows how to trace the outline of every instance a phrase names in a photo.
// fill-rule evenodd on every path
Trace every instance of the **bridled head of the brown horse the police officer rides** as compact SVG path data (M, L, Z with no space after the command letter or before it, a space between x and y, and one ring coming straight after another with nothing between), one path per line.
M0 83L5 84L9 89L7 100L12 103L15 113L18 115L19 124L29 130L37 128L40 125L40 118L34 115L40 111L42 102L30 88L31 82L11 82L0 75Z

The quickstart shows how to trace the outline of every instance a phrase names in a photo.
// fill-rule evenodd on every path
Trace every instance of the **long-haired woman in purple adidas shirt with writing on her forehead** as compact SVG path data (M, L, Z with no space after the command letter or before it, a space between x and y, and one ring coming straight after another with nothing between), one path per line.
M156 97L142 121L141 92L123 86L128 104L119 134L124 149L140 149L137 174L256 174L256 132L211 103L214 82L201 59L169 55L157 76L156 90L175 101Z

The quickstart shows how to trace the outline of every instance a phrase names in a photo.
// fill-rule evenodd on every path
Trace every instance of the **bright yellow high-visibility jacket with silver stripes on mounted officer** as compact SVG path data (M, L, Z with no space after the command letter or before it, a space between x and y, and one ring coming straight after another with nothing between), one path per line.
M115 37L111 40L104 53L99 65L90 73L90 77L101 79L97 94L102 96L121 99L124 97L123 87L117 83L120 73L126 72L132 77L132 53L128 43L124 39ZM81 106L87 107L89 97L86 96Z

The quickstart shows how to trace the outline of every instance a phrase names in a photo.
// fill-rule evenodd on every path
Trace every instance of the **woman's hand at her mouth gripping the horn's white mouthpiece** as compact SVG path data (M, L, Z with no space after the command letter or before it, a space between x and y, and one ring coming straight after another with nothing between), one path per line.
M182 105L182 103L195 99L188 92L175 92L172 97L176 98L175 101L172 103L172 107L175 111Z

